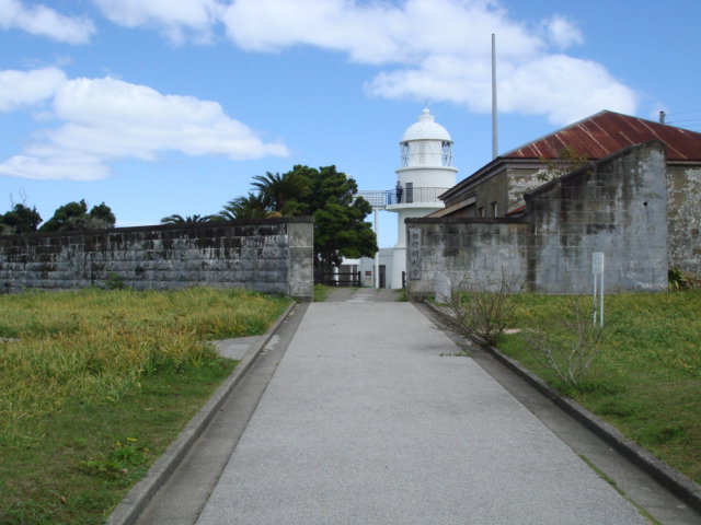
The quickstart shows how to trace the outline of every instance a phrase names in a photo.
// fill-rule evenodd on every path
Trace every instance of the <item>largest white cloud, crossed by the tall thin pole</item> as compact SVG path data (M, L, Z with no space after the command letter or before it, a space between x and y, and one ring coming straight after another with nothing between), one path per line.
M562 15L526 24L497 0L237 0L222 16L240 48L308 45L384 68L371 96L429 98L491 108L491 34L496 34L499 107L568 124L608 108L634 113L636 94L598 63L561 51L584 43Z

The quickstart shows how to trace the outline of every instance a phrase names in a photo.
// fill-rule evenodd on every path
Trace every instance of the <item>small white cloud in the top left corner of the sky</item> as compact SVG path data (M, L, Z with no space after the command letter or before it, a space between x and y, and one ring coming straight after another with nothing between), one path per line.
M20 0L0 0L0 27L18 28L68 44L85 44L95 26L83 16L66 16L44 4L25 7Z

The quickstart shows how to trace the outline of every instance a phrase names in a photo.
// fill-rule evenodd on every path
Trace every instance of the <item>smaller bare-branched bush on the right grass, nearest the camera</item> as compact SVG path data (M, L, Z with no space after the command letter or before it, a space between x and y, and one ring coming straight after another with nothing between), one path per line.
M567 308L552 319L548 331L524 334L526 349L558 378L574 386L586 374L601 349L604 327L593 322L590 298L567 295Z

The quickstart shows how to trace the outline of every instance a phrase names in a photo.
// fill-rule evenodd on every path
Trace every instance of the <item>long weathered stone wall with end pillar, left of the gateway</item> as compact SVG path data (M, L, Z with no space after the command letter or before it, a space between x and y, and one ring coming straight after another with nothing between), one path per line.
M136 290L210 284L313 296L309 218L0 236L0 257L5 292L102 285L115 273Z

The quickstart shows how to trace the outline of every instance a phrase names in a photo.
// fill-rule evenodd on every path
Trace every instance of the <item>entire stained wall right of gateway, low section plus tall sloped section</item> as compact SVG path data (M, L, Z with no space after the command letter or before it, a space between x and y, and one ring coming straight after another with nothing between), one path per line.
M609 291L667 289L665 150L623 150L527 194L518 219L413 219L407 293L433 294L437 271L476 285L518 276L528 290L590 290L591 254L602 252Z

